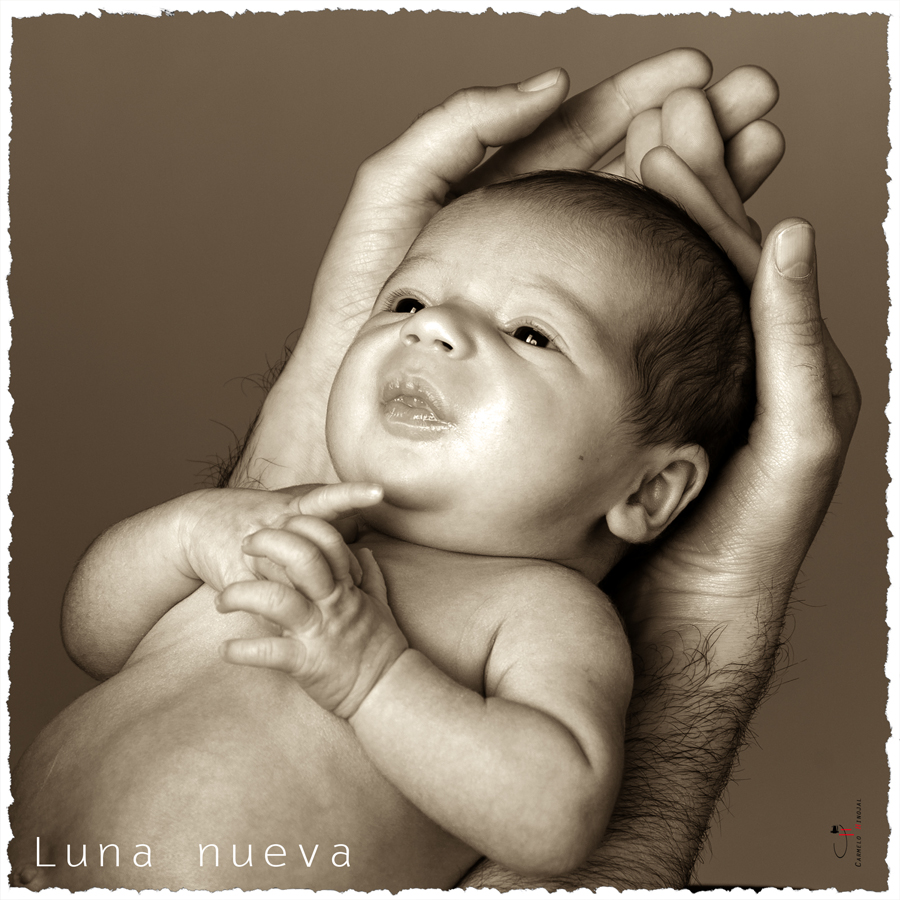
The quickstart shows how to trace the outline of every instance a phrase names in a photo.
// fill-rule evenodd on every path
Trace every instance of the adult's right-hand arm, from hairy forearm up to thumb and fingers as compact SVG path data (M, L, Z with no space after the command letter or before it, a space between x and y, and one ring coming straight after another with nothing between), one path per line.
M644 176L676 199L690 195L692 212L699 204L707 227L750 259L750 238L726 221L699 179L668 150L653 157ZM665 539L607 585L628 620L636 671L625 774L602 846L561 879L523 880L484 863L463 886L688 883L771 678L794 580L831 501L860 405L819 310L808 223L789 219L769 235L751 319L758 405L748 444Z

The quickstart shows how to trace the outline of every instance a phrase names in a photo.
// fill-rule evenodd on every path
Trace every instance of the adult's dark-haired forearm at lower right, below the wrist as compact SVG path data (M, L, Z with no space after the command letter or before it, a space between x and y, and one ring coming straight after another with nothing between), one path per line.
M522 879L486 861L461 886L684 887L771 678L787 599L787 591L760 597L727 629L645 624L635 640L625 775L600 848L560 878Z

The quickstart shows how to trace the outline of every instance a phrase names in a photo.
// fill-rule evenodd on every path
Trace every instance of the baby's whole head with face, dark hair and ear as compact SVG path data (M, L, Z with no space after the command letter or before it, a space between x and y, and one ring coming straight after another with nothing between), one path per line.
M335 379L343 480L375 527L573 563L651 540L746 436L747 289L676 206L543 172L447 206L387 280Z

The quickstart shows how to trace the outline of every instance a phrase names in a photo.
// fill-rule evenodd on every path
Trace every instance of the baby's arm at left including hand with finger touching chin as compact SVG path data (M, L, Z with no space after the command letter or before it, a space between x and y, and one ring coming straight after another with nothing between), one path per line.
M247 534L304 513L336 517L380 496L373 485L205 490L125 519L94 541L72 575L62 611L66 650L95 678L109 678L201 584L221 590L257 574L241 551Z

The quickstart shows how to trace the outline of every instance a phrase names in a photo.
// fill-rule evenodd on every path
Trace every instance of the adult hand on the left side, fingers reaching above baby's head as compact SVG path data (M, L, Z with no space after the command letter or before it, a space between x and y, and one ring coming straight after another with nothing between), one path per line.
M565 103L569 82L561 69L519 85L470 88L368 159L326 251L296 350L266 399L231 485L335 480L324 439L334 374L381 285L448 192L539 168L591 167L625 137L636 116L663 107L680 88L699 90L710 74L702 53L680 49ZM716 121L731 136L723 157L728 171L738 193L749 196L780 158L780 147L773 148L771 136L759 140L754 124L774 104L777 88L761 69L747 68L708 96ZM504 146L476 169L485 149L498 145ZM721 183L721 177L711 179L714 189Z

